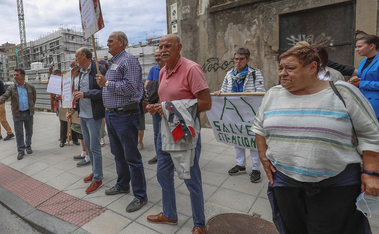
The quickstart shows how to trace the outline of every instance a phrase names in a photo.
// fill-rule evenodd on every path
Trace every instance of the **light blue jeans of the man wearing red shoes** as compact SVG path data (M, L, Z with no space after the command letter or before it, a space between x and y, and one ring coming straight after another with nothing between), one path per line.
M94 173L93 181L101 181L103 176L103 157L101 154L100 134L104 119L80 117L81 134L88 151L89 160Z

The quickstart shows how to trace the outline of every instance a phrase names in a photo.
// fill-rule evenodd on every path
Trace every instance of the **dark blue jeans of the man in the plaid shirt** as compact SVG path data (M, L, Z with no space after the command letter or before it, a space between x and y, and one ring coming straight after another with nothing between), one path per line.
M137 149L140 115L139 108L116 113L106 111L105 120L116 161L116 187L129 190L132 181L133 195L140 201L147 201L145 172Z

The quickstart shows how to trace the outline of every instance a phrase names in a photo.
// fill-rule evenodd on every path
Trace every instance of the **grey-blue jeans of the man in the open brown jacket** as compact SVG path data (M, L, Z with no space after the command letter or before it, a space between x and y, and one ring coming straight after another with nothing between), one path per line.
M17 152L24 154L25 149L31 149L31 136L33 135L33 115L29 110L20 112L20 117L13 116L14 133L16 134ZM23 139L23 126L25 125L25 142Z

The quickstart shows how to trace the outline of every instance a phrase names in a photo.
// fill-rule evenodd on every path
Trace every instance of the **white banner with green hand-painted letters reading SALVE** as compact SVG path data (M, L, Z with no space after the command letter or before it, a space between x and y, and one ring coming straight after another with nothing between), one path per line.
M256 149L253 126L263 96L211 97L207 117L218 142L246 149Z

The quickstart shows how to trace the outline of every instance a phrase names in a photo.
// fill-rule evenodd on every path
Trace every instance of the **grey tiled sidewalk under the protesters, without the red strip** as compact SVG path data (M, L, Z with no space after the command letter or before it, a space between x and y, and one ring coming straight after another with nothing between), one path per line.
M13 121L9 102L6 103L7 120L13 129ZM151 118L146 115L146 118ZM148 120L147 120L148 121ZM59 147L58 118L52 113L36 112L34 115L32 149L33 154L25 154L17 160L16 140L0 141L0 163L7 165L31 178L49 185L61 194L83 199L89 203L105 207L106 210L81 226L90 233L134 233L134 234L188 234L191 233L193 222L189 192L183 180L175 176L175 190L179 224L156 225L146 220L147 215L162 211L161 187L157 181L157 165L149 165L148 160L155 155L152 125L146 125L144 133L144 149L142 154L147 181L149 202L136 212L127 213L125 207L133 199L132 194L106 196L104 191L116 184L116 166L114 156L108 146L109 138L105 137L106 145L103 153L103 184L99 191L87 195L88 183L83 177L91 173L91 166L77 167L72 159L81 153L81 146L70 144ZM6 135L4 129L2 133ZM247 174L229 176L227 171L236 165L235 151L232 146L218 143L211 129L202 129L202 153L200 168L205 199L205 217L224 212L242 214L258 214L264 220L272 222L271 207L266 195L267 183L265 173L262 182L253 184ZM4 135L3 135L4 137ZM251 160L247 159L247 167ZM263 172L263 171L262 171ZM5 194L5 193L3 193ZM1 199L0 199L1 200ZM374 234L379 234L379 214L370 218Z

